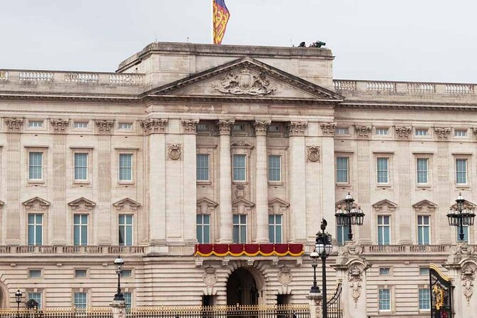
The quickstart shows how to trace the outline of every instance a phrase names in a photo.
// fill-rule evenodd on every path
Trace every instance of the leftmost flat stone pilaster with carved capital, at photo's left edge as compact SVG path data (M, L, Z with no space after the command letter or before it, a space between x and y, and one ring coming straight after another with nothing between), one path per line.
M22 118L5 118L4 125L6 131L6 245L20 245L20 222L21 220L26 224L23 213L21 212L20 204L20 133L23 131L24 120ZM26 172L28 173L28 171ZM23 217L22 217L23 216Z

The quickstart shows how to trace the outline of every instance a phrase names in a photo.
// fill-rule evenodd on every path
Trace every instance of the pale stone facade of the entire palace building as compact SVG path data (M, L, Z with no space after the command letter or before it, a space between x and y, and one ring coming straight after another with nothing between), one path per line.
M239 267L259 303L304 303L319 222L342 242L334 210L350 192L367 271L344 272L336 247L329 290L347 279L369 317L427 314L421 268L456 243L445 215L458 193L477 202L475 86L333 81L332 60L327 48L152 43L117 73L0 71L1 305L20 288L44 307L71 307L75 292L106 306L118 254L133 306L226 304ZM237 215L251 244L269 242L279 215L281 241L305 254L194 257L197 215L210 217L207 242L225 244Z

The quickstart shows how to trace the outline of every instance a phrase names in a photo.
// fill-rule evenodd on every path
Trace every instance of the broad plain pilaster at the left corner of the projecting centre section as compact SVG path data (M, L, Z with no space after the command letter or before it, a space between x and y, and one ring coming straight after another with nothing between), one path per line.
M167 119L148 118L140 126L148 139L149 244L165 245L165 128Z

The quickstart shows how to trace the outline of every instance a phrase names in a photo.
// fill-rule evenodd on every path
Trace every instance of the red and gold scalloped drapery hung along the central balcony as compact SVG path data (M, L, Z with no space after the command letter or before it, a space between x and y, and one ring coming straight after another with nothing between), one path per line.
M300 256L302 244L196 244L194 256Z

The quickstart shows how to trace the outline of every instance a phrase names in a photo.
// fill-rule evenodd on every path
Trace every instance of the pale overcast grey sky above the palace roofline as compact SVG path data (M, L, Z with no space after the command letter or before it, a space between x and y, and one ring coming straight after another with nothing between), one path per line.
M155 41L210 43L212 0L1 0L0 68L115 71ZM324 41L334 78L477 83L477 1L225 0L223 44Z

